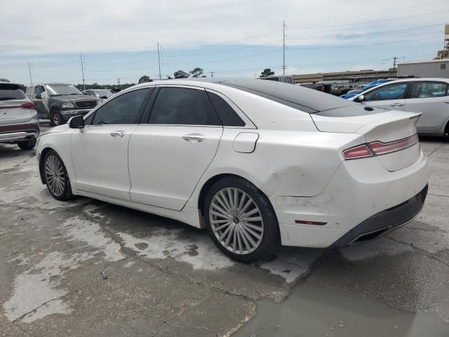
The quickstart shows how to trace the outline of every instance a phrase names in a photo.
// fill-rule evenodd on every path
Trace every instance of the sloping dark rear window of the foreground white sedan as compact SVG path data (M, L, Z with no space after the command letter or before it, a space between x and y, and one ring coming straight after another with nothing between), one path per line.
M314 89L276 81L232 79L220 81L219 83L268 98L269 100L274 100L274 102L302 110L309 114L358 104L328 93L321 93Z

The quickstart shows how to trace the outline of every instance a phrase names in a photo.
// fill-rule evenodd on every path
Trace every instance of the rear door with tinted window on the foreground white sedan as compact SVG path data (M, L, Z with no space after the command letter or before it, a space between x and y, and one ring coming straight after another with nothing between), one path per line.
M130 138L130 197L180 211L215 157L223 127L203 88L159 86Z

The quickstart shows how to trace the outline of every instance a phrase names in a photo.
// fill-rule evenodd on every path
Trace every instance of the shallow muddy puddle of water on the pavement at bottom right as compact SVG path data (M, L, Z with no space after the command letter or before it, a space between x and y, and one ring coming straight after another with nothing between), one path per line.
M282 303L257 302L257 313L233 336L449 336L449 325L427 313L397 310L346 291L298 284Z

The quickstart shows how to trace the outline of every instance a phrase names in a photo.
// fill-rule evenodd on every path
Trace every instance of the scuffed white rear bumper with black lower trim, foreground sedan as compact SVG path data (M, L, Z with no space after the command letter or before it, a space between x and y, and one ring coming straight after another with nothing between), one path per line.
M427 158L422 152L414 164L394 172L384 169L375 157L343 161L315 197L272 199L281 242L284 246L328 248L355 242L373 230L385 228L387 232L419 213L426 187Z

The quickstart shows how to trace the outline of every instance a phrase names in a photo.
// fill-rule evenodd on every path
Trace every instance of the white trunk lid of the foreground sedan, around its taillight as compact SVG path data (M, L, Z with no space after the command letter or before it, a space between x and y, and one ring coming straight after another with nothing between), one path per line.
M414 136L416 122L420 115L412 112L380 110L376 113L349 117L311 114L311 118L319 131L357 133L365 136L366 143L385 144ZM379 154L377 158L388 171L398 171L420 158L420 145L415 143L395 152Z

